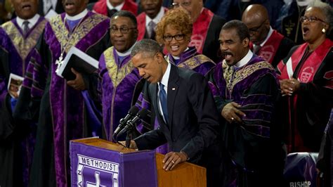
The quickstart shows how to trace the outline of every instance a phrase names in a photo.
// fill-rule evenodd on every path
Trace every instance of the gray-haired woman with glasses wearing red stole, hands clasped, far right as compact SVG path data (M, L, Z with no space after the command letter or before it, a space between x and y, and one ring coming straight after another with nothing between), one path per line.
M303 40L278 65L288 152L318 152L333 103L332 7L309 4L300 19Z

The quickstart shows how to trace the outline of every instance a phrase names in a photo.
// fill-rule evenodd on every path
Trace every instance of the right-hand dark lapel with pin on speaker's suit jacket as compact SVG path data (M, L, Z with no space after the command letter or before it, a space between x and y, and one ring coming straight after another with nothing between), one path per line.
M170 75L169 75L169 82L168 82L168 114L169 114L169 128L172 132L173 122L172 118L174 117L174 103L176 100L176 95L178 92L178 70L177 67L174 65L171 65Z

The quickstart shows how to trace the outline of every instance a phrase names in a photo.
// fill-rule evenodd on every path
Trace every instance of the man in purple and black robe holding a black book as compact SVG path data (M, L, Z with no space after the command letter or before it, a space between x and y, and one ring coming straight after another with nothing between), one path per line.
M98 74L72 69L75 78L67 80L55 72L72 46L96 60L110 46L110 19L87 11L87 4L63 1L65 13L46 24L37 51L41 58L32 62L31 96L40 112L30 186L70 186L70 140L101 131L101 119L93 112L98 105L89 97L97 90Z

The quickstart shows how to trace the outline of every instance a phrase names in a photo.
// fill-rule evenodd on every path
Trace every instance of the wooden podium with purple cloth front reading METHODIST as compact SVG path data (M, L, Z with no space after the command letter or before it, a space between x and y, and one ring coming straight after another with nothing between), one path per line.
M206 169L189 162L162 169L164 155L132 150L100 138L70 141L72 186L207 186Z

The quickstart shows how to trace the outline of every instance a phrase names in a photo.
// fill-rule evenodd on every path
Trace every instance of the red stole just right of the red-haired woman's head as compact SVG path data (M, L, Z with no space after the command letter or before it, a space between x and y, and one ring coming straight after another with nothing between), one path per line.
M204 8L197 20L193 23L191 41L188 46L195 46L198 53L202 53L202 49L204 49L204 41L206 41L207 32L213 16L214 13Z

